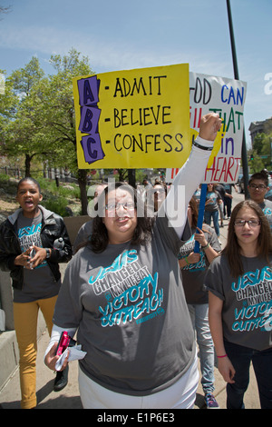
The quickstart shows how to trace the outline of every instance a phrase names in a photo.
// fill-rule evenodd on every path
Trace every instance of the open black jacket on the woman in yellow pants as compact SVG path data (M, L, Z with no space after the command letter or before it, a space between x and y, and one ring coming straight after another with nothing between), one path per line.
M51 256L47 263L52 270L53 277L57 282L60 277L59 263L66 263L72 258L72 245L63 222L63 218L48 211L39 205L43 214L41 240L44 248L51 248ZM15 258L22 253L20 243L16 234L16 221L22 209L18 209L10 215L4 223L0 224L0 269L10 272L13 286L22 289L24 282L24 267L15 265ZM53 249L55 239L63 237L64 246L61 250Z

